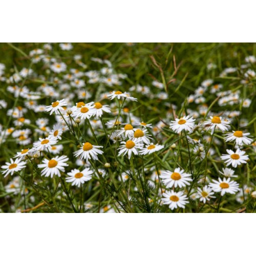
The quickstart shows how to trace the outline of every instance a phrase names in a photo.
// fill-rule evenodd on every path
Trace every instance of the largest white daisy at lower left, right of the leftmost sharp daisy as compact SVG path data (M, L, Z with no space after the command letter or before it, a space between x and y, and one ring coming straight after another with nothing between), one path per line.
M44 159L42 160L42 164L38 164L38 168L44 168L41 171L41 175L44 175L46 177L49 177L51 175L51 178L53 175L58 175L60 177L60 170L61 172L65 172L64 166L69 166L66 162L69 160L67 156L56 156L52 158L51 160Z

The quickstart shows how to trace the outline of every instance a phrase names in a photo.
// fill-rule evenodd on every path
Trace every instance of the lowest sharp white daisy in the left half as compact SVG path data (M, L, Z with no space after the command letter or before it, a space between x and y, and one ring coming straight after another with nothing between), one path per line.
M76 185L80 187L81 184L92 179L92 174L93 171L90 168L85 168L81 172L78 169L73 169L68 173L70 177L66 178L66 181L72 182L72 186Z

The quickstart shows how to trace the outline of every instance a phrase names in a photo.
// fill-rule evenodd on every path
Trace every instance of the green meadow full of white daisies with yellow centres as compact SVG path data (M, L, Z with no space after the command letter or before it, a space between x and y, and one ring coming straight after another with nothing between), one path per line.
M0 44L1 212L255 212L256 44Z

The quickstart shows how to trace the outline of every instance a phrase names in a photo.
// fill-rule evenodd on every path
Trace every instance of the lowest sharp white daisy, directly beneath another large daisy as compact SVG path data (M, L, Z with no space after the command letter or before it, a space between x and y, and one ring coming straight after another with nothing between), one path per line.
M183 194L183 191L175 192L165 191L162 198L163 204L168 204L169 208L173 210L174 208L185 208L185 204L188 203L186 195Z

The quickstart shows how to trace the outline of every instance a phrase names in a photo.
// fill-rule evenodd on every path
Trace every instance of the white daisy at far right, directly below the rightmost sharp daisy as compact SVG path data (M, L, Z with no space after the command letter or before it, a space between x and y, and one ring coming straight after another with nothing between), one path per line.
M234 168L236 168L238 165L242 163L246 163L246 160L248 160L248 155L244 154L245 151L241 151L239 148L237 149L236 153L234 153L232 150L227 150L228 154L224 154L221 156L222 160L226 160L225 163L228 165L232 164Z

